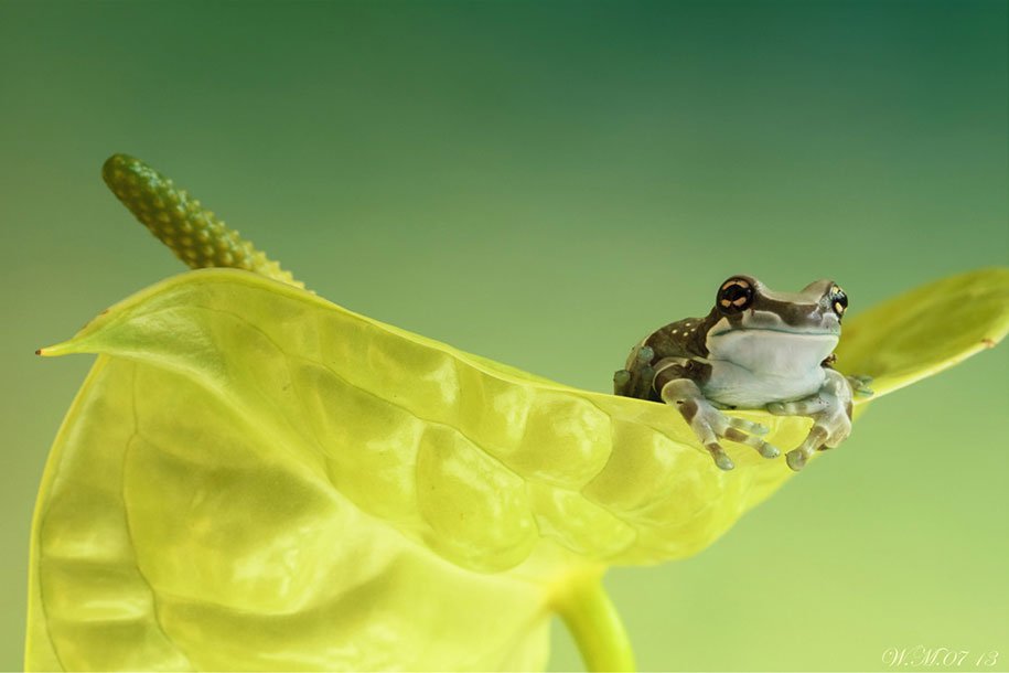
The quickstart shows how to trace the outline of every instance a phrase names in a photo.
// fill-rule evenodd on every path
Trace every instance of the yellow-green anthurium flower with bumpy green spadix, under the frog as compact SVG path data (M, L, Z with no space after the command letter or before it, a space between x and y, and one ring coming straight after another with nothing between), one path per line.
M125 200L191 263L272 277L186 273L41 351L98 357L39 493L30 670L533 670L554 613L590 667L631 667L604 569L696 554L795 476L731 445L723 472L665 405L331 303L141 178ZM856 415L1007 330L1007 269L854 316L837 364L876 392ZM811 423L738 416L781 447Z

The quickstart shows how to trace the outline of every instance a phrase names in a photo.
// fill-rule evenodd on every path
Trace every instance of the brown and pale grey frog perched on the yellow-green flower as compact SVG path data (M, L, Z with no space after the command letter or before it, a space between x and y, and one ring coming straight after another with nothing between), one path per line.
M736 466L721 440L781 456L763 438L766 426L726 410L809 417L808 435L785 457L797 472L815 451L848 438L856 395L872 394L869 376L834 367L847 310L848 296L834 280L780 292L752 276L731 276L707 316L670 322L631 349L613 392L676 407L722 470Z

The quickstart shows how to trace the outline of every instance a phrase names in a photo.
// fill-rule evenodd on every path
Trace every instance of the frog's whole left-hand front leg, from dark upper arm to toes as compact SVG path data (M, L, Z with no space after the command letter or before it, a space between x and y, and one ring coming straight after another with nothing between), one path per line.
M680 357L659 360L655 364L653 385L659 392L663 402L679 409L684 419L690 425L690 429L711 453L715 464L722 470L731 470L736 467L718 441L722 438L752 447L764 458L780 456L781 451L777 448L760 437L755 437L755 435L766 434L768 428L742 418L726 416L708 402L697 383L690 377L695 374L694 364L691 361Z

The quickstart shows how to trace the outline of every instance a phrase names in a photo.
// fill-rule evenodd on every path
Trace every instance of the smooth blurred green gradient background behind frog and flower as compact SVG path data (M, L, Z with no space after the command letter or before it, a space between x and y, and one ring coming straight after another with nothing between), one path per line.
M1005 2L0 0L0 667L89 366L32 351L181 270L106 192L111 152L324 297L607 389L733 273L833 277L857 312L1009 263L1007 121ZM1003 345L888 397L704 554L612 571L640 665L869 670L922 644L1009 670L1007 381Z

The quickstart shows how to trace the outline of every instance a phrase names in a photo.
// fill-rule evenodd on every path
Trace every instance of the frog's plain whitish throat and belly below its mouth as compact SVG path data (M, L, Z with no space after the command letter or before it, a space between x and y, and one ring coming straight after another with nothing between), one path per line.
M711 375L700 389L708 399L739 408L808 397L823 387L820 363L836 345L834 334L724 334L709 341Z

